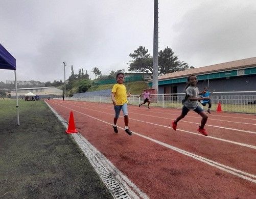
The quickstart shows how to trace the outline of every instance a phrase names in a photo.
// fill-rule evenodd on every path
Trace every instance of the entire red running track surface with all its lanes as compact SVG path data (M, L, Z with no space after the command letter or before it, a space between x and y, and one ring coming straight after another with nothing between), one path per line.
M129 136L123 117L118 120L119 133L113 132L112 104L46 102L66 121L72 110L77 130L150 198L256 198L254 115L213 112L205 126L208 136L203 136L197 132L201 118L193 111L174 131L171 121L181 110L129 105L129 129L134 132ZM243 173L232 174L179 150Z

